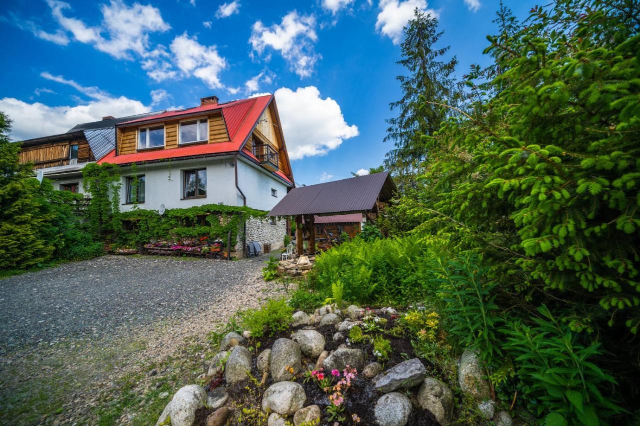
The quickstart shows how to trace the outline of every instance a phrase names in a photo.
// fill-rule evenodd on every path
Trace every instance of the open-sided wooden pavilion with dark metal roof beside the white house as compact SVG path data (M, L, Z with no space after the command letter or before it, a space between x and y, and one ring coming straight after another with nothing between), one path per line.
M316 244L330 246L329 232L333 237L342 231L353 236L365 223L376 221L396 192L388 171L301 186L291 189L268 216L295 216L296 252L316 253Z

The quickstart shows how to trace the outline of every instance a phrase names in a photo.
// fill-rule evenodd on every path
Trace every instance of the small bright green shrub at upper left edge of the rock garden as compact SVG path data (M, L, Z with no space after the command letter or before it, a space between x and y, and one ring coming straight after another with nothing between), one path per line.
M270 299L260 309L243 312L242 326L251 331L254 337L262 337L266 333L273 336L289 327L292 313L293 310L285 299Z

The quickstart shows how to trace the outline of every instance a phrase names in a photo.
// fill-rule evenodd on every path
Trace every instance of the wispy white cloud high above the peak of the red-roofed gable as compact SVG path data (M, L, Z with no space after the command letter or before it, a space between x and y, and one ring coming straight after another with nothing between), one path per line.
M255 22L249 42L259 55L267 48L280 52L296 74L301 78L308 77L320 58L314 49L317 41L315 28L316 19L312 15L298 15L294 10L282 18L282 23L271 27Z

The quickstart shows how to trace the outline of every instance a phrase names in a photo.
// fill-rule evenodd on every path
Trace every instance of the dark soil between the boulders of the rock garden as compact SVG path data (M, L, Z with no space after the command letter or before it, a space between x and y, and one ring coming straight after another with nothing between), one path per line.
M390 359L383 363L383 367L385 370L393 367L394 365L406 361L407 359L415 358L413 354L413 349L411 342L408 338L398 338L396 336L388 335L385 333L388 329L394 326L395 319L393 317L389 317L388 315L379 315L380 317L385 317L388 319L388 322L385 326L385 330L381 333L390 340L391 347L393 349L392 354L390 354ZM307 326L308 327L308 326ZM280 333L276 333L273 336L262 336L261 338L252 339L250 343L246 343L247 347L253 348L252 353L252 376L255 380L247 380L243 383L236 383L232 386L227 387L227 391L229 393L229 401L227 402L227 406L233 406L234 409L242 409L249 407L259 407L262 404L262 393L264 390L273 384L271 380L271 376L267 380L264 388L260 388L259 382L262 378L260 372L258 372L256 368L257 355L263 351L264 349L270 348L273 343L278 340L278 338L290 338L291 334L298 330L303 329L305 326L291 327L291 329L287 331L282 331ZM339 347L340 344L344 342L334 342L333 335L336 333L335 326L322 326L315 327L315 329L324 336L326 340L326 345L324 349L326 351L333 351ZM345 336L348 336L348 332L342 333ZM259 349L256 349L258 347ZM369 343L368 340L364 340L360 343L351 343L349 347L355 349L362 349L365 352L365 365L376 361L376 357L372 354L373 345ZM420 359L424 366L427 368L428 374L433 371L434 366L426 361L425 359ZM303 356L302 359L302 368L303 372L308 368L313 368L316 363L316 359L308 359ZM360 372L358 372L360 373ZM329 405L329 399L326 393L317 386L314 381L308 381L308 383L304 383L304 377L300 374L294 381L300 383L305 389L305 393L307 394L307 402L305 402L305 406L309 406L312 404L316 404L320 407L322 411L322 418L320 425L333 425L333 422L328 422L326 415L326 407ZM205 386L205 390L209 391L218 386L224 385L225 381L222 377L213 377L211 381ZM401 390L399 390L401 391ZM415 397L413 395L417 394L418 387L410 390L410 395L407 393L410 398L412 398L413 408L412 414L409 418L409 425L438 425L435 418L433 418L433 414L429 413L424 409L420 409L417 404L415 404ZM376 405L376 401L381 397L381 393L375 390L374 384L372 381L365 379L364 377L358 377L355 381L352 382L352 386L349 391L346 393L345 397L345 410L344 415L347 420L340 424L350 425L354 424L351 420L351 414L357 414L360 417L360 425L373 425L374 424L374 406ZM195 426L205 426L207 415L211 413L209 409L199 409L196 413L196 421L194 422ZM230 417L230 422L228 424L239 424L234 422L234 414ZM246 423L243 422L241 424L254 424L254 423ZM259 423L258 423L259 424ZM263 423L263 424L266 424Z

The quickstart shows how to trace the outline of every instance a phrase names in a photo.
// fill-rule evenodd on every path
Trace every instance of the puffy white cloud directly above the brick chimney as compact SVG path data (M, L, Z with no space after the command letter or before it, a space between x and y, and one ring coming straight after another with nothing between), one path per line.
M198 77L211 89L224 87L218 74L227 67L227 61L215 45L204 46L196 36L184 33L173 39L170 49L182 74Z

